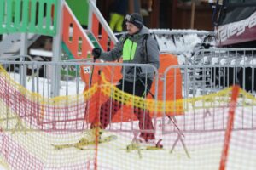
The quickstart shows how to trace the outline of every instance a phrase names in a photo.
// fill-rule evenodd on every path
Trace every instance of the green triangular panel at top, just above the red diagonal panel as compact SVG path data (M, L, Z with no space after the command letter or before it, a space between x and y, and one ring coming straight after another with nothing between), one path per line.
M66 0L69 8L82 26L88 26L89 4L87 0Z

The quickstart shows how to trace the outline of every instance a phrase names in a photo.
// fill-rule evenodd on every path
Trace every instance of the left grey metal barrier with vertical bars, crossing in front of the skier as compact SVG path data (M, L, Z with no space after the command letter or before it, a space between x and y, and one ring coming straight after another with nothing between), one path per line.
M96 77L97 71L102 71L102 73L108 73L106 76L109 86L110 84L115 86L119 83L119 79L117 79L116 71L121 71L124 73L125 69L130 69L132 67L143 67L143 68L150 68L154 70L154 79L156 83L154 84L154 95L156 96L154 99L154 104L157 104L157 95L158 95L158 72L152 65L145 65L145 64L115 64L115 63L92 63L92 62L31 62L31 61L7 61L2 60L0 61L1 65L7 71L5 73L1 73L1 99L6 101L7 105L12 105L11 107L14 108L13 111L16 112L21 118L23 117L25 120L32 120L32 123L28 130L70 130L70 131L83 131L84 129L88 128L87 126L82 126L83 123L86 124L87 118L84 117L84 111L86 110L86 105L90 105L88 107L94 107L96 104L94 100L84 100L83 93L84 89L91 89L92 85L97 83L98 77ZM52 84L54 84L51 79L52 77L52 68L58 67L62 68L61 72L61 96L56 97L56 100L51 98L50 89ZM20 68L24 74L26 74L26 83L23 86L20 85ZM89 68L85 70L84 68ZM3 71L3 70L2 70ZM73 76L69 74L69 71L73 71ZM83 71L84 73L82 73ZM133 72L134 75L137 75L137 70ZM88 80L84 82L81 79L81 74L87 74ZM93 76L94 75L94 76ZM120 75L120 74L119 74ZM146 72L147 78L147 72ZM93 79L93 80L91 80ZM97 80L96 80L97 79ZM14 82L13 82L14 81ZM55 80L57 81L57 80ZM137 81L136 76L134 77L134 82ZM92 83L92 84L90 84ZM145 85L148 82L144 82ZM106 86L103 82L100 87L104 88ZM120 89L125 88L125 83ZM111 88L111 90L113 90ZM145 88L145 91L148 89ZM8 93L7 93L8 92ZM137 87L133 87L131 94L135 94L137 92ZM7 93L7 94L6 94ZM32 93L32 94L31 94ZM90 91L88 92L90 95ZM112 94L113 92L111 92ZM29 95L27 95L29 94ZM16 95L16 98L13 98ZM29 97L29 96L32 97ZM126 94L125 94L126 95ZM7 96L7 97L6 97ZM85 95L86 96L86 95ZM119 94L121 96L121 94ZM58 98L60 100L58 100ZM21 99L21 100L20 100ZM61 100L62 99L62 100ZM68 101L68 99L71 99ZM146 96L143 97L146 99ZM57 101L58 100L58 101ZM131 99L132 100L132 99ZM91 102L91 104L90 104ZM113 102L113 100L112 100ZM133 103L132 103L133 102ZM137 105L134 103L135 101L131 101L131 105ZM58 105L60 104L60 105ZM70 105L69 105L70 104ZM123 105L123 104L122 104ZM124 103L125 105L125 103ZM142 104L144 105L144 104ZM33 108L34 107L34 108ZM40 116L40 111L43 111L42 108L44 107L44 121L43 123L45 126L41 126L42 124L37 123L38 116ZM78 107L77 110L73 110L73 108ZM109 105L108 107L112 107ZM131 106L132 107L132 106ZM37 109L38 108L38 109ZM66 108L66 109L64 109ZM110 108L109 108L110 109ZM88 108L90 110L90 108ZM120 109L121 110L121 109ZM155 107L156 110L156 107ZM6 110L6 114L9 114L9 110ZM142 111L146 111L145 109ZM53 114L53 115L51 115ZM94 115L95 113L91 113L90 115ZM121 111L121 116L123 116L123 112ZM124 113L125 114L125 113ZM48 115L48 116L46 116ZM55 116L54 116L55 115ZM70 115L70 117L68 116ZM157 114L153 114L157 115ZM74 118L73 116L77 117ZM111 116L111 114L110 114ZM125 115L124 115L125 117ZM9 117L10 118L10 117ZM11 117L10 119L15 119ZM35 120L34 120L35 119ZM153 117L154 123L156 123L156 117ZM8 120L5 120L8 122ZM36 121L36 122L34 122ZM75 127L68 127L68 126L61 126L61 123L69 122L71 124L76 124ZM48 125L47 125L48 124ZM47 125L47 126L46 126ZM131 132L136 130L137 124L134 121L131 121L131 128L124 128L124 122L119 122L118 127L115 123L114 126L111 126L112 122L110 122L108 130L110 131L127 131ZM58 127L59 126L59 127ZM6 125L6 130L11 130L11 126ZM138 129L137 129L138 130ZM147 131L147 130L145 130Z

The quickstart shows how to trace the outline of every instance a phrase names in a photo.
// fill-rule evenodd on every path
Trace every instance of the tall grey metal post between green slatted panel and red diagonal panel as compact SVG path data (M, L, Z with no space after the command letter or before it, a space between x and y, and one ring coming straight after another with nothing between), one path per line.
M62 40L62 24L63 24L63 6L64 0L60 0L58 4L58 14L57 14L57 23L56 23L56 35L53 39L53 58L52 61L58 62L61 60L61 40ZM52 68L52 77L51 77L51 89L50 89L50 96L55 97L60 95L60 76L61 70L60 65L53 65Z

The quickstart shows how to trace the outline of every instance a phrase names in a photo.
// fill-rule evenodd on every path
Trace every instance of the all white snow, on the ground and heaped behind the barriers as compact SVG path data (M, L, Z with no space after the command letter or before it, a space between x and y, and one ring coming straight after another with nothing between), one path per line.
M185 39L183 43L176 43L174 45L167 37L158 37L160 40L160 48L162 51L170 52L175 51L180 53L181 51L187 51L185 57L190 55L191 51L195 48L197 43L201 43L201 38L197 35L188 35L182 37ZM182 54L179 58L180 64L183 64L184 59ZM224 62L224 61L222 61ZM19 82L20 77L18 74L11 74L11 77L15 78L16 82ZM38 78L38 85L32 86L31 77L27 77L27 89L34 90L44 97L49 97L50 82L45 81L42 78ZM78 80L73 79L65 82L61 81L61 95L72 95L82 93L84 90L84 82L79 79L79 86L77 86ZM35 82L36 83L36 82ZM44 85L44 86L43 86ZM43 88L44 87L44 88ZM48 88L47 88L48 87ZM67 93L68 92L68 93ZM4 105L1 105L4 107ZM205 109L201 109L204 111ZM196 110L196 113L201 111ZM193 113L193 109L190 108L186 112L186 117L177 117L177 125L184 130L184 127L188 130L195 127L195 133L184 133L184 144L188 150L189 156L186 154L181 140L177 141L177 146L174 147L172 153L173 144L177 139L177 133L173 133L171 129L174 128L173 124L166 124L167 133L162 132L162 120L156 127L156 138L163 139L164 150L141 150L141 156L138 150L125 150L127 144L131 144L133 139L133 133L128 132L106 132L103 136L111 134L117 135L118 139L105 144L99 144L97 152L98 169L218 169L220 156L222 154L224 146L224 130L218 127L225 127L226 113L228 109L210 111L209 116L206 119L202 117L202 114ZM236 116L236 124L241 124L241 117L246 115L247 119L242 119L242 123L245 127L254 127L256 122L255 116L253 116L253 107L248 110L240 110L239 116ZM191 114L191 115L189 115ZM186 121L185 121L186 120ZM194 120L194 121L193 121ZM197 120L197 122L195 122ZM216 124L212 124L212 120L216 121ZM134 122L137 124L137 122ZM252 125L252 126L249 126ZM125 123L126 129L131 129L131 123ZM135 126L136 127L136 126ZM207 130L215 128L216 131L209 132ZM112 129L120 129L118 123L113 124ZM168 133L168 129L171 133ZM202 132L196 132L196 129L201 129ZM24 133L7 133L9 139L15 139L17 144L24 147L32 155L36 156L39 161L44 162L46 165L52 168L64 166L67 163L68 166L77 165L77 162L84 163L86 160L90 162L88 169L94 169L95 162L95 150L94 147L90 147L91 150L78 150L74 147L55 150L51 144L73 144L83 138L85 133L66 133L59 136L55 133L44 132L28 132ZM254 169L256 167L255 149L256 149L256 136L255 130L241 130L232 133L232 139L230 144L230 155L228 160L227 169ZM28 162L29 163L29 162ZM81 165L83 167L84 165ZM88 166L88 164L87 164ZM45 168L49 168L45 167ZM84 167L84 169L87 167ZM4 166L0 169L4 169Z

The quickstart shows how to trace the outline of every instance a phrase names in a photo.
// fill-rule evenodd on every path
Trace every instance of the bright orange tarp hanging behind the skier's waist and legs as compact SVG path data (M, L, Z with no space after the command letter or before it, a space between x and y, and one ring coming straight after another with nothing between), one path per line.
M170 65L178 65L177 57L172 54L160 54L160 69L159 75L163 77L164 71ZM94 66L93 74L90 75L90 71L92 70L92 66L89 66L89 70L85 73L85 67L81 67L81 77L86 84L90 83L90 77L92 77L91 84L92 86L99 81L98 79L98 71L102 71L104 74L104 81L102 87L99 88L101 91L101 95L96 95L96 98L99 99L101 96L100 105L105 104L109 97L111 97L108 104L105 104L106 112L114 113L113 122L127 122L131 120L137 120L137 117L134 116L134 112L136 114L137 108L142 109L143 112L148 112L148 115L151 117L159 117L163 115L164 107L166 109L166 115L180 115L183 113L183 104L182 104L182 75L179 69L170 69L166 74L166 101L163 101L163 89L164 82L159 79L158 82L158 104L155 104L156 101L152 98L151 95L148 94L148 99L141 99L139 97L134 97L131 94L125 94L121 92L118 88L115 88L114 83L118 82L121 79L121 67L111 67L111 66ZM174 81L175 80L175 81ZM110 84L109 82L112 82ZM88 89L88 86L87 88ZM155 92L155 81L150 90L151 92ZM107 106L108 105L108 106ZM115 111L110 111L109 108L113 108L113 110L118 110L115 114ZM96 111L89 111L96 112ZM98 111L99 112L99 111ZM108 113L106 113L108 114ZM90 116L91 117L91 116ZM107 117L107 116L106 116ZM90 119L90 122L93 120ZM109 121L109 120L108 120ZM108 122L107 121L107 122Z

